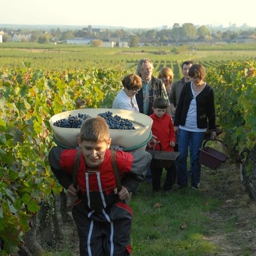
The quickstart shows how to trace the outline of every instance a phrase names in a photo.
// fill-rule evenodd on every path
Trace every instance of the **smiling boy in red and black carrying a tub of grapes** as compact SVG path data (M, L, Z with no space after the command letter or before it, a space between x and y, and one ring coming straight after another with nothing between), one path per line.
M133 212L127 199L144 179L151 155L110 150L109 126L102 117L82 123L78 142L81 150L53 147L49 163L59 183L76 197L72 215L80 255L129 255Z

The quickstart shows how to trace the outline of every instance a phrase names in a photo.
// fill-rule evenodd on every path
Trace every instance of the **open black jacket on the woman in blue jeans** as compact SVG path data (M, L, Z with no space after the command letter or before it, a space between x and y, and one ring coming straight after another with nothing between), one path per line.
M187 82L180 94L180 99L177 104L174 126L184 126L187 118L190 102L193 99L191 91L191 82ZM214 109L214 92L212 87L208 84L196 97L196 110L197 110L197 127L204 129L208 127L209 130L216 130L215 124L215 109Z

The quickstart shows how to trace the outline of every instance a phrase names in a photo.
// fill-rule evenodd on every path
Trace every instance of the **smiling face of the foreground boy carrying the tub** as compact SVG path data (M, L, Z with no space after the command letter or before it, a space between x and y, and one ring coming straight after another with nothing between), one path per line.
M86 165L90 167L98 167L104 160L105 152L110 147L111 139L108 142L91 142L82 141L78 138L79 146Z

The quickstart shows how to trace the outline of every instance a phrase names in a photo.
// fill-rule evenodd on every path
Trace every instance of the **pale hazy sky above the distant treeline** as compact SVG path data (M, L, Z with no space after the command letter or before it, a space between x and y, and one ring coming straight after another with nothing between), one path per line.
M256 0L2 0L0 24L256 27Z

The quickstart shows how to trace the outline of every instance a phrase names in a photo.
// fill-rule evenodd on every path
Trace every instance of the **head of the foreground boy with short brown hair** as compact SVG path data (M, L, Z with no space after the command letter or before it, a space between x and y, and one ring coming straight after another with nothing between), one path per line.
M97 167L104 160L105 152L110 147L109 126L102 117L86 119L77 138L86 165Z

